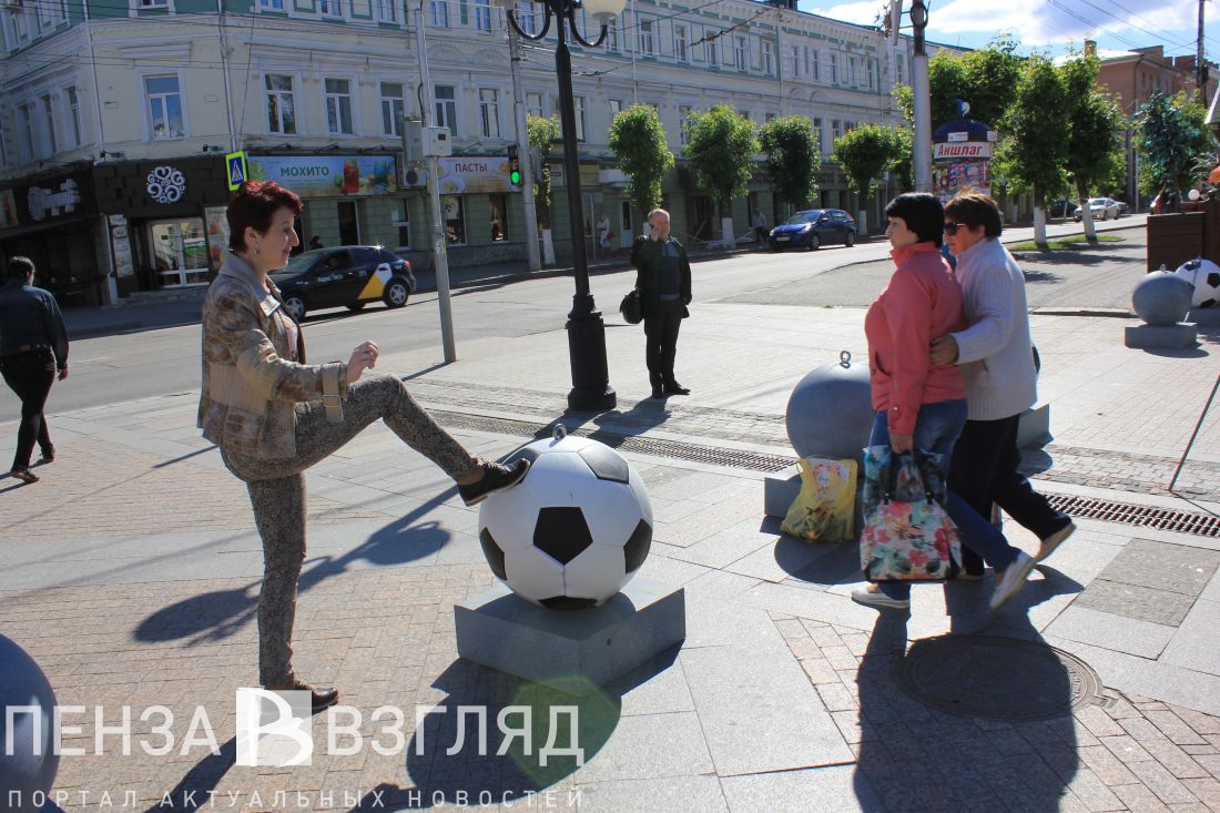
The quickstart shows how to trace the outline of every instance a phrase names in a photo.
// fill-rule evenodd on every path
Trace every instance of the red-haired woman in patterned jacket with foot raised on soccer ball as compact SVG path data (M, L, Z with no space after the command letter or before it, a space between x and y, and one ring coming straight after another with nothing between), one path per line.
M305 470L377 419L453 477L467 505L520 482L528 461L510 469L479 460L401 380L361 380L377 365L373 342L361 342L346 363L306 364L301 328L267 276L300 243L293 228L300 214L300 198L273 182L246 182L229 201L229 255L204 299L199 426L246 483L262 537L259 681L270 690L309 691L318 710L337 702L338 691L300 680L292 664L306 549Z

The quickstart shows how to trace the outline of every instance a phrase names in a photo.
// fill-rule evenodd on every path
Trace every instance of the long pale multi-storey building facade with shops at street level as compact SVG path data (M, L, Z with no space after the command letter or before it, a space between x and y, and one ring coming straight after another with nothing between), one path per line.
M527 29L543 24L540 5L514 11ZM517 140L505 10L490 0L7 0L0 28L0 250L33 256L68 303L206 283L228 239L224 155L239 149L251 177L305 198L303 242L383 244L427 265L422 176L400 151L401 117L421 106L453 132L439 178L450 262L526 255L505 160ZM521 51L526 109L556 115L553 37ZM858 125L900 123L891 92L909 71L909 40L866 27L753 0L633 0L600 46L573 49L590 245L603 214L616 245L642 220L606 146L617 111L653 105L678 155L692 111L726 104L758 125L802 115L828 156ZM564 256L558 150L548 161ZM712 237L715 204L681 161L665 197L678 234ZM831 164L820 197L856 205ZM755 210L783 214L761 171L734 201L739 231Z

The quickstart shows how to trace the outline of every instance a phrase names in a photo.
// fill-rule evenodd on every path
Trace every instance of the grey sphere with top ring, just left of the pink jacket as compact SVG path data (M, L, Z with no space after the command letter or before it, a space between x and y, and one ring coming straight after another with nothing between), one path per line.
M787 419L798 455L861 463L872 428L869 365L844 350L837 363L817 367L788 397Z

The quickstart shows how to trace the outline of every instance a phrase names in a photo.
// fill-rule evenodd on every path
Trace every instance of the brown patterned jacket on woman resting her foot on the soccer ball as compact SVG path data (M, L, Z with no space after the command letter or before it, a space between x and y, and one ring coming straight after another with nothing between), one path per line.
M346 396L346 365L306 365L300 328L279 289L264 292L254 270L228 255L204 299L203 391L198 426L227 452L260 459L296 455L296 403L322 399L323 370L338 366ZM296 347L290 333L296 333ZM290 361L294 356L298 361Z

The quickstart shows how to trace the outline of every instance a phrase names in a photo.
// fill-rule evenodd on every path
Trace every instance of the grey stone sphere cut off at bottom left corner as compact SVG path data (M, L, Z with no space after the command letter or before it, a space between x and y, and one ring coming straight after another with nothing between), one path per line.
M37 710L0 714L0 789L5 811L38 813L60 769L55 753L55 692L29 654L0 635L0 707L33 706ZM12 752L7 743L12 742Z

